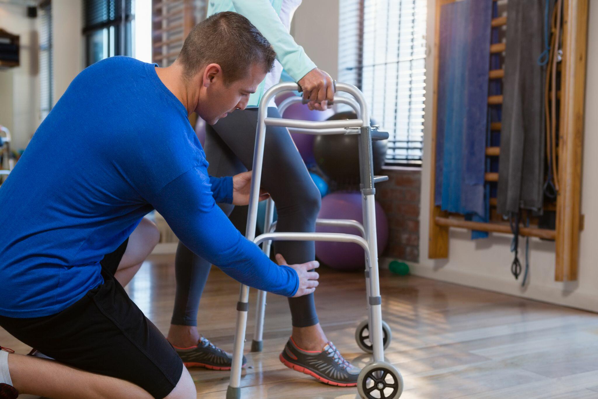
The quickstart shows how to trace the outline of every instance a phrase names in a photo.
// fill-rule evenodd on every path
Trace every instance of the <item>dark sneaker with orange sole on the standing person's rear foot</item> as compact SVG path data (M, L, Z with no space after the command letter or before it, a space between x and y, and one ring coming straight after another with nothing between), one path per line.
M189 348L178 348L174 346L176 353L181 357L186 367L205 367L210 370L230 370L233 364L233 355L201 337L196 346ZM247 364L247 358L243 356L243 367Z

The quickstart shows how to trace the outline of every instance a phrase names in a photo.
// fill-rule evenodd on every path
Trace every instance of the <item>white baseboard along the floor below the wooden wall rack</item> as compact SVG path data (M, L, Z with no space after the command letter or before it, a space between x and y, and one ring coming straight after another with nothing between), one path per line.
M392 259L381 258L380 267L388 269L390 260ZM575 289L565 291L559 287L533 284L530 284L523 290L520 284L517 284L512 279L506 280L486 275L474 275L454 269L434 270L434 267L425 264L410 262L407 262L407 264L409 265L411 274L414 276L598 313L598 298L595 292L584 293Z

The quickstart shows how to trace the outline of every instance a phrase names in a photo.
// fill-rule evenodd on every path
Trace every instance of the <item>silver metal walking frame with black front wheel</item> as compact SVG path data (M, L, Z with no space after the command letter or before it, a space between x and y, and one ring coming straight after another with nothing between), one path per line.
M269 118L267 117L267 106L270 100L280 92L289 90L298 90L300 87L297 83L285 82L271 87L260 100L260 108L258 109L258 125L255 135L254 160L253 160L253 176L251 181L251 193L249 195L249 211L247 217L247 227L245 237L257 244L262 243L262 250L265 254L270 254L271 242L276 240L303 240L303 241L337 241L337 242L353 242L364 248L365 252L365 281L367 293L367 309L368 309L368 329L371 340L371 353L373 354L373 362L368 367L383 367L392 371L393 376L398 376L400 373L396 368L388 363L384 363L384 348L383 348L383 332L382 332L382 299L380 297L379 284L379 270L378 270L378 248L376 237L376 207L374 202L374 183L382 181L379 176L374 176L373 155L372 155L372 139L388 138L388 133L377 132L375 128L370 127L370 115L368 114L367 103L361 91L355 86L345 83L337 83L336 90L338 92L346 92L353 96L354 99L348 99L337 96L334 100L338 103L345 103L352 106L359 115L358 119L347 120L332 120L332 121L301 121L284 118ZM291 103L300 102L301 98L296 97L285 100L282 105L284 108L291 105ZM281 112L282 113L282 112ZM295 129L295 131L307 134L358 134L358 150L359 150L359 169L361 179L361 193L362 193L362 209L364 223L361 224L354 220L318 220L316 224L319 226L345 226L353 227L362 234L362 237L355 234L343 233L276 233L271 232L273 229L272 217L274 212L274 203L270 199L266 205L266 220L264 224L264 231L267 233L255 237L255 229L257 225L257 208L260 196L261 172L263 166L264 144L266 139L266 126L282 126ZM227 399L240 398L240 383L243 347L245 344L245 330L247 313L249 309L249 287L241 285L239 293L239 301L237 302L237 327L234 337L233 362L231 365L230 384L227 389ZM258 339L258 344L252 350L261 350L261 339L263 335L263 316L264 305L266 303L266 293L260 291L258 293L258 323L256 325L256 333L254 338ZM376 368L378 370L378 368ZM394 370L394 371L393 371ZM395 372L396 371L396 372ZM359 379L369 376L371 370L364 368L359 374ZM401 379L402 384L402 379ZM358 390L362 397L361 388ZM402 385L401 389L402 391ZM400 395L400 392L399 392ZM395 398L398 396L394 396Z

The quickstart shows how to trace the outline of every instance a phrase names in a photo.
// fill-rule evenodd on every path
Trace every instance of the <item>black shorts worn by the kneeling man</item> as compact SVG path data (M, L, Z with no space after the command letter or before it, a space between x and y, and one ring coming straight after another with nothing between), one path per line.
M0 326L69 366L124 379L155 398L175 388L183 363L162 333L114 279L127 240L101 261L104 283L55 315L0 316Z

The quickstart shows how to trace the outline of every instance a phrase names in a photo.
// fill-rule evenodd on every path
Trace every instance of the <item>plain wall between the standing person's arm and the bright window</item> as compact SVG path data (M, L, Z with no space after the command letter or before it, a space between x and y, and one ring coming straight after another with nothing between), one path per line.
M291 24L291 34L307 56L338 76L338 0L303 0Z

